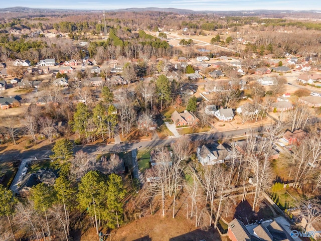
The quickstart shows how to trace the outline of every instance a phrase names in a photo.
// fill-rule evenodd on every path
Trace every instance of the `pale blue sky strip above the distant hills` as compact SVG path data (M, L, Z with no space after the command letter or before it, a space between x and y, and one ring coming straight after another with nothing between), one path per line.
M178 8L195 11L243 10L318 10L320 0L13 0L3 1L1 8L29 7L74 10L114 10L127 8Z

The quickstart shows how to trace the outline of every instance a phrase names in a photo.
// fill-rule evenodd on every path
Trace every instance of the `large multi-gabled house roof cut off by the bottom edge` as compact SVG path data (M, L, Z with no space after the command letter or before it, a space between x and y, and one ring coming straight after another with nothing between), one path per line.
M271 220L245 226L241 220L234 218L228 224L227 234L232 241L294 241L282 225Z

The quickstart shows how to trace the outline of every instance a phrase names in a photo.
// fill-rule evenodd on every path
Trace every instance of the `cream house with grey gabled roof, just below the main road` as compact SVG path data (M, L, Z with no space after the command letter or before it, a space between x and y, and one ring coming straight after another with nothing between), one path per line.
M203 166L224 163L228 159L228 151L222 144L198 147L196 155Z

